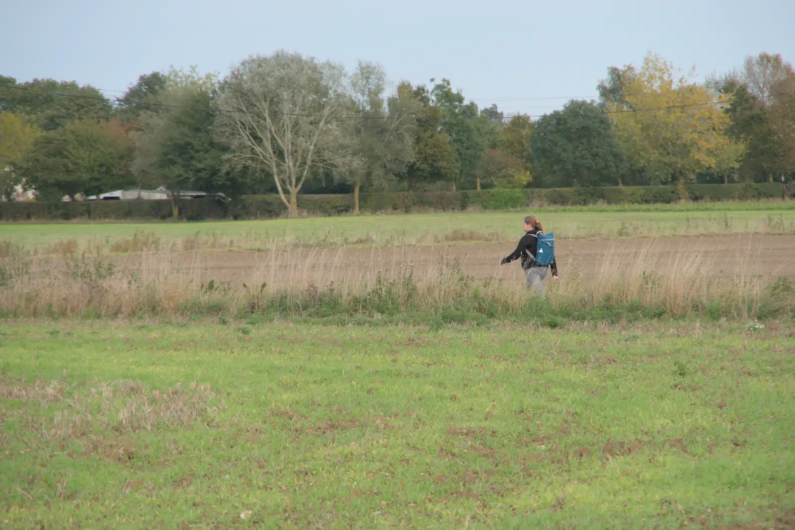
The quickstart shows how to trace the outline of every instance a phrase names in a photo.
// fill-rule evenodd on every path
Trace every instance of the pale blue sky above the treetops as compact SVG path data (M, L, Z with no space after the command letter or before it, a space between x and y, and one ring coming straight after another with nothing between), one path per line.
M608 66L638 64L649 50L683 70L695 65L700 78L762 51L795 62L793 0L3 4L0 74L104 90L172 63L223 74L252 53L285 48L348 67L372 60L396 81L446 77L481 107L541 114L595 98Z

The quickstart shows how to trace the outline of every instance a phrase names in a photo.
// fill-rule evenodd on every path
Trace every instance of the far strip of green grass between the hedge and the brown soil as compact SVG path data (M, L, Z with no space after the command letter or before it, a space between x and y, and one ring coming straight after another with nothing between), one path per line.
M622 209L623 208L623 209ZM623 236L692 236L735 232L795 233L795 208L781 203L650 205L528 209L560 239ZM0 224L2 240L25 248L59 241L93 241L109 247L115 240L151 234L162 240L198 236L206 246L263 248L273 241L292 244L429 244L456 240L514 240L522 230L518 212L415 213L363 217L312 217L273 221L196 223ZM229 244L231 240L231 245Z

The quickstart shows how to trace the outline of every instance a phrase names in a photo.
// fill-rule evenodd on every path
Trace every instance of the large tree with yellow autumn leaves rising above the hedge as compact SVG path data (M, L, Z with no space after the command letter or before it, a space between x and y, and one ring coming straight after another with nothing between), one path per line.
M619 97L604 106L619 143L650 182L684 184L700 171L737 167L744 146L727 135L725 95L688 81L653 53L631 71L619 76Z

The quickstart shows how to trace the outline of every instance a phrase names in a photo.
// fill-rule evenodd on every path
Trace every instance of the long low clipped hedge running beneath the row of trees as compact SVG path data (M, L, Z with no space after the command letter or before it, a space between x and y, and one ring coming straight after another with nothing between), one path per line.
M688 184L694 202L748 201L781 198L784 185ZM621 186L556 188L549 190L482 190L361 194L363 212L409 213L413 211L460 211L467 208L520 209L528 205L670 204L681 200L677 186ZM298 208L310 215L334 216L353 211L352 195L298 195ZM285 215L278 195L246 195L223 204L215 198L182 201L180 218L186 221L249 218L272 219ZM170 201L3 202L0 221L166 220L172 216Z

